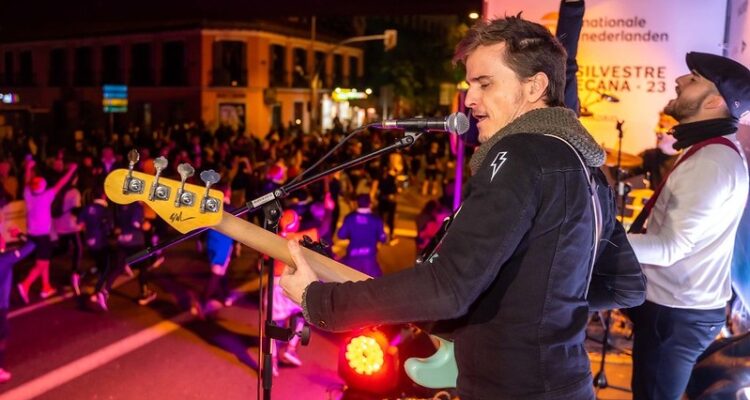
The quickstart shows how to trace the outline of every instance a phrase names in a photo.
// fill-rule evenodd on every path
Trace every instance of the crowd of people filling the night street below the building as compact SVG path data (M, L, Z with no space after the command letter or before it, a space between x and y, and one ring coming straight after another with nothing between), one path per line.
M115 205L108 201L104 179L115 169L128 168L126 156L129 150L137 150L140 156L134 169L151 175L156 172L156 157L164 157L168 162L166 170L161 173L163 177L179 179L176 178L177 166L181 163L189 163L196 171L217 171L221 181L214 187L224 192L225 208L230 210L295 179L333 146L341 143L348 133L340 123L324 134L306 134L298 127L290 126L274 129L265 137L225 128L210 132L198 124L180 124L148 134L137 128L129 129L124 135L94 131L78 135L69 146L58 149L45 149L33 138L22 135L6 138L0 154L0 209L11 203L24 203L25 238L34 249L33 252L24 250L24 255L30 252L34 262L28 272L21 272L22 276L14 280L8 275L3 280L0 297L4 299L5 307L2 310L7 313L12 288L18 298L28 304L37 297L47 299L68 285L76 295L86 296L92 304L108 310L109 293L115 280L123 274L137 274L138 304L145 306L156 299L157 291L150 276L152 270L164 262L164 255L153 255L132 266L127 263L127 256L177 233L172 232L169 225L145 204ZM403 132L363 129L333 152L320 168L377 150L395 141L399 135ZM382 272L377 262L378 246L387 244L387 237L395 239L396 195L407 185L421 186L420 181L425 176L425 171L419 169L421 165L432 165L430 181L449 177L445 167L449 162L447 144L440 142L440 138L429 140L422 144L418 142L409 151L335 173L290 193L282 207L286 210L286 219L293 214L295 222L282 226L281 233L294 235L289 233L292 227L301 232L314 231L314 239L329 245L326 251L331 256L334 254L330 244L335 237L349 239L350 245L343 257L367 260L366 263L352 263L352 267L379 276ZM424 147L435 149L431 156L434 160L429 163L413 161L413 158L424 158L420 155ZM440 154L437 154L438 149ZM320 172L320 168L314 172ZM203 186L198 175L195 174L190 182ZM354 210L352 215L341 215L342 205ZM356 215L364 213L368 215L368 222L363 224ZM261 223L258 214L248 218ZM2 220L2 215L0 213L0 231L4 235L0 236L13 241L10 232L18 227L11 221ZM435 218L440 217L436 215ZM362 241L363 235L376 240ZM7 248L14 249L20 243L10 244ZM231 256L239 250L239 245L232 238L213 230L209 230L198 243L206 253L210 275L204 291L195 296L191 309L203 317L211 310L213 300L231 305L233 297L225 275ZM4 252L5 242L2 247L0 250ZM65 274L69 279L53 282L50 268L60 267L55 265L53 256L63 254L69 255L71 260L70 271ZM20 258L13 260L17 262ZM10 273L12 265L3 269ZM37 281L41 285L37 286ZM283 302L275 304L283 305ZM0 334L2 332L4 330L0 327ZM281 359L291 360L293 364L299 361L293 346L282 352Z

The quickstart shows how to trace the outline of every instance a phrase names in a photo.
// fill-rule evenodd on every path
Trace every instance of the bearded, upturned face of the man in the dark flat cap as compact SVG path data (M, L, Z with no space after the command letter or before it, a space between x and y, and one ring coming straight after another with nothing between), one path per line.
M716 86L695 71L682 75L676 82L677 97L667 103L664 113L680 123L693 122L706 97L718 93Z

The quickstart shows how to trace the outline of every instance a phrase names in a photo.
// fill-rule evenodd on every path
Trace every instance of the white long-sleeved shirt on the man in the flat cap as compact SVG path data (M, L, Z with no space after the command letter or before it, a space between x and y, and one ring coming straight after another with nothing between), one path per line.
M725 137L742 149L736 135ZM734 238L747 195L745 156L728 146L705 146L672 171L647 233L628 234L647 278L648 301L701 310L726 305Z

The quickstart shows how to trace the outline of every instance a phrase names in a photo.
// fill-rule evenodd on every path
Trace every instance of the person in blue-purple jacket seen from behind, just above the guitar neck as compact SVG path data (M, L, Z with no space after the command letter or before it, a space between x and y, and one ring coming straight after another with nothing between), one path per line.
M370 209L370 195L357 196L357 210L344 217L338 237L349 239L342 263L372 277L383 275L378 265L378 243L385 243L387 236L383 220Z

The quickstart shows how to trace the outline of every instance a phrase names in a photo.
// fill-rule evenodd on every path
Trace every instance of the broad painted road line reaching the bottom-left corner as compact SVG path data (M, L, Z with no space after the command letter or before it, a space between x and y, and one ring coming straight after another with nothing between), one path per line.
M26 400L41 396L91 370L180 329L182 324L190 319L192 319L190 313L185 312L170 320L159 322L132 336L28 381L0 395L0 400Z

